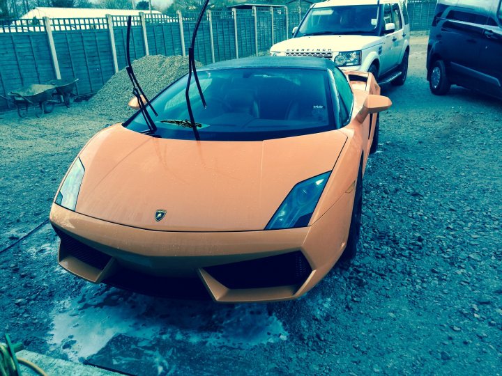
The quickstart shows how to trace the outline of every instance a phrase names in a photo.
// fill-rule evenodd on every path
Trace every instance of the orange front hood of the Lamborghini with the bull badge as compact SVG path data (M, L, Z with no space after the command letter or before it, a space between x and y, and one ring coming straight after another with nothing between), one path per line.
M263 230L296 183L333 169L347 136L267 141L158 139L114 125L79 157L76 212L169 231ZM155 220L155 213L165 217Z

